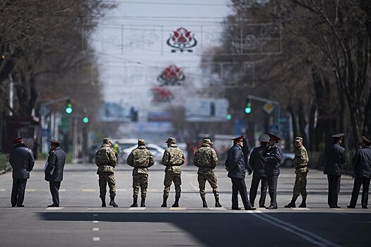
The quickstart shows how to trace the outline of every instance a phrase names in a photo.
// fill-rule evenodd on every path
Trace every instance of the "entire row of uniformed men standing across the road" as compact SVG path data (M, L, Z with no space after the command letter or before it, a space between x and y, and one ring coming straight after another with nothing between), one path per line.
M329 181L329 207L336 208L338 192L340 189L340 177L342 164L346 162L345 149L341 147L343 133L332 135L334 143L326 147L325 159L326 165L324 173ZM278 145L281 140L278 136L269 133L259 136L260 147L255 147L247 161L246 155L242 152L243 135L233 138L233 146L228 151L225 160L225 169L228 171L228 177L232 181L232 210L240 210L238 207L237 194L240 193L245 210L255 210L254 200L257 196L257 189L261 182L261 198L259 207L265 207L266 190L268 188L271 202L266 209L278 208L276 202L277 181L279 175L279 165L281 164L282 149ZM65 162L65 153L59 147L60 142L50 140L51 147L47 164L45 166L45 180L49 181L50 192L52 193L52 205L48 207L59 207L59 187L63 180L63 170ZM162 207L167 207L167 198L169 197L170 186L175 184L175 203L172 207L179 207L179 198L181 194L181 174L180 166L184 164L184 154L176 145L175 138L168 138L167 149L163 155L163 164L165 165L164 193ZM199 193L201 195L203 207L208 207L206 203L205 185L206 181L213 188L213 194L216 199L215 206L221 207L219 203L219 192L217 178L213 172L218 157L215 150L211 147L213 143L206 138L204 143L194 155L194 165L199 167L198 181ZM116 182L114 180L114 167L116 166L116 157L111 148L112 142L109 138L103 140L103 144L95 154L95 162L98 166L97 174L99 176L100 198L102 207L106 206L105 195L107 185L110 188L110 205L118 207L114 202L116 195ZM363 185L362 207L367 208L368 188L371 178L371 142L363 136L362 147L355 153L353 158L353 168L355 169L355 183L349 208L354 208L357 202L360 186ZM302 203L299 207L306 207L307 199L307 164L309 162L307 151L302 145L302 138L295 138L295 186L293 188L293 199L285 207L295 207L295 201L302 195ZM30 177L30 171L33 169L33 153L25 146L22 138L14 140L13 149L9 161L13 167L13 188L11 194L11 205L13 207L23 207L23 198L25 185ZM153 155L146 149L145 140L139 139L138 147L134 149L127 159L127 164L133 169L133 204L131 207L138 207L139 189L141 189L141 207L146 206L146 192L148 187L148 167L154 164ZM245 183L246 171L249 174L254 170L252 177L252 186L250 188L249 198Z

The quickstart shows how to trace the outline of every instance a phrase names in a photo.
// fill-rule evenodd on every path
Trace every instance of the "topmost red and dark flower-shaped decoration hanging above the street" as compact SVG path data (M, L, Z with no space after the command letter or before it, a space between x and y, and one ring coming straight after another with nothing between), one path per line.
M170 34L166 44L174 49L171 52L193 52L193 47L197 45L194 33L185 28L178 28Z

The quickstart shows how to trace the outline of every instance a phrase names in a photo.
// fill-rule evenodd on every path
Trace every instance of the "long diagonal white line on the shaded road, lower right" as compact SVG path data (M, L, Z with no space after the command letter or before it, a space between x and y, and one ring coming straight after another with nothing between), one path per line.
M277 219L276 217L272 217L271 215L267 215L264 213L257 214L254 213L254 211L252 211L251 213L254 217L257 217L263 220L264 222L268 222L269 224L273 224L273 226L289 231L292 234L298 235L300 236L300 238L305 239L306 241L313 243L314 245L341 247L341 245L338 245L337 243L332 243L331 241L324 239L321 236L312 233L311 231L307 231L300 227L296 227L293 224L284 222L283 220Z

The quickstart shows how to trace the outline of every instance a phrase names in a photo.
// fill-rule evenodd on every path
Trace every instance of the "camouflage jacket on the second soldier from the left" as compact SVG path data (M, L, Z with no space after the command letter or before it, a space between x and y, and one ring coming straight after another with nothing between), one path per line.
M136 174L148 175L148 167L152 167L155 164L152 153L146 148L145 145L140 145L130 152L127 157L127 164L130 167L134 167L133 176Z

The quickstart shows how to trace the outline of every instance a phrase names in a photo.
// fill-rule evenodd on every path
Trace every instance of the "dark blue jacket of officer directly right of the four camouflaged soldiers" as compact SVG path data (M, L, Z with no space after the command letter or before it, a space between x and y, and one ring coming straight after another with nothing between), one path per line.
M240 145L233 145L228 151L225 160L225 169L228 171L229 178L245 179L246 170L251 171L249 164L245 162L245 156Z

